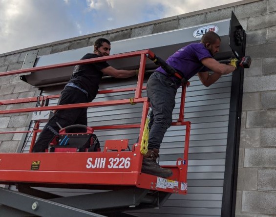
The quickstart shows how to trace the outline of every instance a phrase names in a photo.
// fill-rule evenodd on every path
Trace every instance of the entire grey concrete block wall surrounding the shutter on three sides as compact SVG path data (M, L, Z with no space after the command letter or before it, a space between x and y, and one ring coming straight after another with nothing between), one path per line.
M38 56L43 56L91 46L100 37L112 42L229 19L231 11L247 32L246 54L253 59L251 68L245 70L235 216L276 216L276 0L242 0L0 54L0 71L20 69L24 56L31 50L38 50ZM39 90L18 76L0 79L0 100L38 94ZM0 106L0 109L18 107L22 105ZM0 131L22 130L28 124L26 113L0 115ZM22 136L0 134L0 152L15 152Z

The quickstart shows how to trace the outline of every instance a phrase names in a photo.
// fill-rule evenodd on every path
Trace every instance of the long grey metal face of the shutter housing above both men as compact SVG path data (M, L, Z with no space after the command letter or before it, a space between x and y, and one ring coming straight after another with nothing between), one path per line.
M114 55L114 54L131 52L134 50L150 49L153 52L156 52L156 50L158 51L160 50L160 52L156 52L156 55L161 56L161 58L163 58L163 56L166 57L166 53L168 53L168 49L175 51L178 48L180 48L182 44L199 41L200 38L195 38L193 36L193 32L200 27L208 26L208 25L217 26L218 27L217 34L220 37L226 36L227 39L229 39L228 35L229 35L230 19L227 19L227 20L222 20L217 22L202 23L191 27L185 27L181 29L175 29L171 31L160 32L160 33L145 35L141 37L115 41L115 42L112 42L112 54ZM227 43L222 44L222 46L226 50L230 49L227 45L228 45ZM164 46L168 46L169 48L164 49ZM222 51L224 50L222 48L220 49ZM43 55L39 57L36 66L44 66L44 65L50 65L50 64L60 64L60 63L69 62L69 61L76 61L81 59L85 53L91 53L92 50L93 50L93 46L88 46L88 47L78 48L74 50L64 51L61 53Z

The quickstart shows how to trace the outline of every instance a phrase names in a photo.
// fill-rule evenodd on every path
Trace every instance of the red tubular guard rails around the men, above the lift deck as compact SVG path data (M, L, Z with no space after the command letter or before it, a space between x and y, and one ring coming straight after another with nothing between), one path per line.
M116 92L126 92L126 91L135 91L135 95L133 98L133 103L141 103L143 102L143 99L141 98L142 89L146 89L146 87L143 87L143 81L144 81L144 72L145 72L145 66L147 61L147 55L149 57L153 57L154 53L150 50L141 50L141 51L134 51L134 52L128 52L124 54L115 54L110 55L106 57L99 57L99 58L93 58L88 60L80 60L80 61L73 61L63 64L55 64L55 65L46 65L46 66L39 66L39 67L33 67L33 68L26 68L26 69L19 69L19 70L13 70L8 72L0 72L0 77L2 76L8 76L8 75L15 75L15 74L24 74L32 72L39 72L42 70L49 70L53 68L60 68L60 67L66 67L66 66L72 66L72 65L84 65L89 63L97 63L101 61L106 60L115 60L115 59L122 59L122 58L129 58L129 57L135 57L135 56L141 56L140 59L140 66L139 66L139 75L137 80L137 86L136 87L128 87L128 88L120 88L120 89L108 89L108 90L99 90L98 94L106 94L106 93L116 93ZM186 87L189 85L189 82L183 86L182 88L182 94L181 94L181 104L180 104L180 112L179 112L179 118L177 122L183 122L184 121L184 107L185 107L185 96L186 96ZM27 98L20 98L20 99L10 99L10 100L0 100L0 105L11 105L11 104L21 104L21 103L31 103L31 102L37 102L39 101L46 101L49 99L56 99L59 98L60 94L58 95L49 95L49 96L39 96L39 97L27 97ZM142 101L141 101L142 100ZM129 103L128 99L126 100L114 100L114 101L106 101L106 102L97 102L97 103L82 103L82 104L71 104L71 105L60 105L60 106L47 106L47 107L35 107L35 108L23 108L23 109L6 109L6 110L0 110L0 114L12 114L12 113L22 113L22 112L32 112L32 111L46 111L46 110L58 110L58 109L72 109L72 108L88 108L88 107L97 107L97 106L111 106L111 105L123 105ZM177 123L172 123L172 125L177 125ZM106 126L106 127L93 127L93 129L101 129L101 130L107 130L107 129L119 129L119 128L131 128L131 127L140 127L137 125L124 125L124 126ZM34 133L40 132L41 130L38 130L39 123L35 126ZM21 130L21 131L2 131L0 134L3 133L27 133L32 132L31 130ZM35 137L34 137L35 138Z

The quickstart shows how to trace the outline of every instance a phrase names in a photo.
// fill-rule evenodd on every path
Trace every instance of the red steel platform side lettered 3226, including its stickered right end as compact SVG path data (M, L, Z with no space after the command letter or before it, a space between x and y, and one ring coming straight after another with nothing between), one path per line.
M179 172L177 166L169 167L173 171L171 180L133 171L142 164L142 155L134 152L67 152L67 153L0 153L0 182L2 183L47 183L47 184L84 184L84 185L126 185L140 188L178 193L185 171ZM129 165L128 168L115 167L114 159ZM124 159L129 159L129 164ZM110 160L111 159L111 160ZM93 161L95 160L95 161ZM100 161L99 161L100 160ZM180 159L181 160L181 159ZM99 164L97 162L100 162ZM102 162L102 163L101 163ZM115 166L114 166L115 165ZM95 168L91 168L95 166ZM181 165L183 166L183 165ZM172 182L173 187L158 188L161 182ZM186 181L186 180L185 180ZM183 184L182 184L183 185ZM186 194L186 189L179 192Z

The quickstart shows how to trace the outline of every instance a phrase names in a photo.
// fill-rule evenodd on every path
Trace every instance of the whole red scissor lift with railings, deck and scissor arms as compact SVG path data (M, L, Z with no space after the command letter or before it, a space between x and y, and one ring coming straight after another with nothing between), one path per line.
M133 216L125 211L161 207L171 194L187 194L188 150L191 123L184 121L184 103L186 87L183 85L179 119L172 126L186 126L184 155L175 165L162 166L170 168L173 175L162 178L141 173L142 159L140 147L142 135L149 112L149 101L142 97L144 71L147 57L153 57L150 50L110 55L89 60L65 64L48 65L31 68L32 72L52 68L100 62L112 59L141 56L139 76L135 88L101 90L101 93L124 92L135 90L132 103L142 103L141 123L116 126L91 126L94 130L140 128L139 140L128 150L128 139L106 140L101 152L56 152L31 153L39 122L35 124L29 153L0 153L0 184L15 185L18 191L0 188L0 213L5 216ZM22 74L30 69L2 72L0 76ZM48 99L59 95L42 97L42 105ZM40 100L40 98L39 98ZM37 97L3 100L0 105L36 102ZM99 106L126 105L129 99L91 102L82 104L42 106L24 109L0 110L0 114L11 114L55 109L87 108ZM185 128L185 127L184 127ZM16 133L31 131L7 131ZM104 192L60 196L36 187L106 190Z

